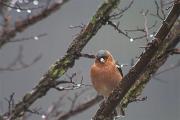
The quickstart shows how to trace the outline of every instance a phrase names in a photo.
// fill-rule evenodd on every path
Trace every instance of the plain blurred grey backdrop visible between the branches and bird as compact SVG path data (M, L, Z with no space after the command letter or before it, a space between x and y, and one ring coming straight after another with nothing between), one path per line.
M41 0L38 1L37 5L31 3L31 5L27 6L41 6L47 3L47 1ZM62 1L59 0L59 2ZM53 3L54 1L50 2ZM31 91L37 85L42 75L47 72L49 66L66 54L66 50L73 38L81 31L79 27L70 28L70 26L86 25L102 2L103 0L69 0L48 18L18 33L12 41L28 37L32 39L21 42L9 42L0 48L0 69L7 68L17 58L19 52L21 52L22 60L25 64L29 65L24 69L18 69L21 68L21 64L17 63L14 66L17 70L0 70L0 113L3 114L8 110L8 103L5 98L9 98L14 92L15 103L20 101L25 93ZM119 8L125 8L130 2L130 0L122 0ZM12 15L12 20L16 21L34 15L40 12L40 10L41 8L33 9L28 13L27 11L19 12L17 9L12 9L9 14ZM114 22L119 21L119 27L124 31L137 29L137 27L144 28L146 18L142 14L147 10L147 25L150 27L156 22L156 26L149 30L148 39L152 40L155 31L158 30L162 23L162 20L158 17L151 15L151 13L156 13L154 0L135 0L123 16ZM169 10L165 10L165 12L168 13ZM0 20L3 23L2 17ZM143 34L136 32L129 35L135 38ZM38 37L38 35L43 36ZM126 36L119 34L113 27L105 25L90 40L82 52L96 54L100 49L107 49L120 64L128 65L122 68L123 73L126 74L131 68L133 60L136 62L137 57L143 52L144 49L141 47L146 44L146 38L132 41ZM159 72L172 66L176 67L152 78L141 95L141 97L147 96L147 100L129 104L126 109L125 120L180 119L180 68L178 67L178 62L180 62L180 56L178 55L168 58L168 61L159 69ZM64 77L59 80L68 79L68 75L71 76L73 73L76 73L73 79L80 81L83 77L83 83L91 84L89 69L92 63L93 59L80 58L76 60L75 66L69 69ZM82 87L62 92L51 89L46 96L37 100L31 108L39 108L42 114L46 114L48 108L57 102L61 96L65 95L66 97L62 101L59 110L66 112L70 108L71 101L69 98L73 98L75 94L80 93L82 90L85 92L78 98L77 105L97 94L92 87ZM73 116L69 120L90 120L99 108L99 104L77 116ZM36 114L27 118L27 120L41 119L43 119L42 116Z

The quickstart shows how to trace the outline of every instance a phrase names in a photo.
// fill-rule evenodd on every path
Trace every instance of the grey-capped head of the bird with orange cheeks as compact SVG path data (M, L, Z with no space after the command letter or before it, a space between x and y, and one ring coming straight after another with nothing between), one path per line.
M107 62L114 62L113 56L108 50L99 50L96 54L95 63L106 64Z

